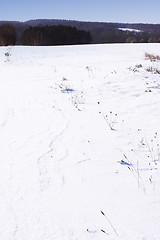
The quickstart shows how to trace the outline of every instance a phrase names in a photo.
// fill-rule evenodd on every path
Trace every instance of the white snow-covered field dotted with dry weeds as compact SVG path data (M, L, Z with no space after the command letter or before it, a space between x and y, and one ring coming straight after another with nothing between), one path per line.
M160 239L160 62L145 52L159 44L0 48L1 240Z

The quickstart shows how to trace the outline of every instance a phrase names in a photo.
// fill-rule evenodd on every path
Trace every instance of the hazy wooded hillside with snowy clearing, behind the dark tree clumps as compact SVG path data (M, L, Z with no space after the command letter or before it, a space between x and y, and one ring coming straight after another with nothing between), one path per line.
M1 21L0 24L6 23ZM13 24L17 31L17 42L21 34L29 27L35 26L53 26L67 25L76 27L80 30L89 31L92 36L92 43L113 43L113 42L151 42L160 41L160 24L131 24L131 23L105 23L105 22L83 22L72 20L56 20L56 19L37 19L26 22L9 22ZM122 32L120 28L135 29L141 32ZM156 37L156 40L153 39Z

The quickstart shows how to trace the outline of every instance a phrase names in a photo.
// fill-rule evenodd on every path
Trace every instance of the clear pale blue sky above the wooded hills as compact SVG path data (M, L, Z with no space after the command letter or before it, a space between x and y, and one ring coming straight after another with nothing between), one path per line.
M2 0L0 20L160 23L160 0Z

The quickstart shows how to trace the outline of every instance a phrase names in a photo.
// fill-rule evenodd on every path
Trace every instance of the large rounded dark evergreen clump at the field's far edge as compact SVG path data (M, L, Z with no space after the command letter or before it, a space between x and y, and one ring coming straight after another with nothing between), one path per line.
M39 26L27 28L20 38L20 44L52 46L85 44L92 40L89 32L70 26Z

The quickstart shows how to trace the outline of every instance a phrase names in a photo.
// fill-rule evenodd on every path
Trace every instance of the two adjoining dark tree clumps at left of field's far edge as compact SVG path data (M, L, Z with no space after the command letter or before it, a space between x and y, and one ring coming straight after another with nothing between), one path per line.
M91 34L85 30L78 30L71 26L36 26L28 27L17 42L16 29L11 24L0 26L0 45L74 45L91 43Z

